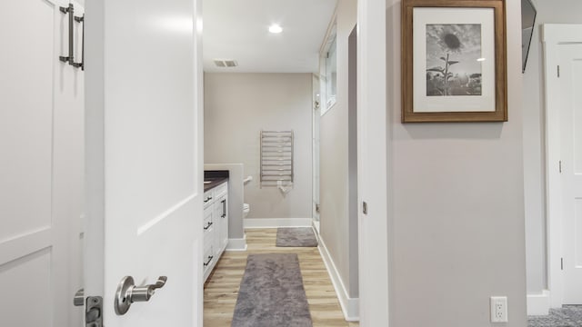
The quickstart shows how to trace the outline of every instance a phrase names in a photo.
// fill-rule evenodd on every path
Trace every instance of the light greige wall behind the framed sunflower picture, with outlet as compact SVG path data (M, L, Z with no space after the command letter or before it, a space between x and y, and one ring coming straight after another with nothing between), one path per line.
M507 0L508 122L401 124L400 1L387 2L393 326L526 326L520 0ZM514 18L511 18L514 17ZM451 307L452 305L452 307Z

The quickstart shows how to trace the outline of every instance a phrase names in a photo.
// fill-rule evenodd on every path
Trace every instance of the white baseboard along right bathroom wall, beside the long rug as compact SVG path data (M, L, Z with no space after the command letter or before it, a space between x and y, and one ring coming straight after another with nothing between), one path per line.
M316 233L317 235L317 233ZM327 272L331 278L331 282L334 284L334 289L336 289L337 300L339 300L339 305L342 307L342 312L344 312L344 318L346 322L359 322L360 320L360 299L350 298L346 291L346 286L342 279L339 277L339 272L337 272L336 264L331 258L331 255L327 251L326 243L317 235L317 241L319 242L319 253L324 259L326 264Z

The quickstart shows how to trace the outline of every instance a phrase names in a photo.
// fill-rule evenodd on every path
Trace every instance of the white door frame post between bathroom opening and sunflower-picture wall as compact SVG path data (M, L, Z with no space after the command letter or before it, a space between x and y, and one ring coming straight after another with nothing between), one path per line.
M389 326L386 2L357 1L357 211L360 326ZM367 213L363 213L363 203Z

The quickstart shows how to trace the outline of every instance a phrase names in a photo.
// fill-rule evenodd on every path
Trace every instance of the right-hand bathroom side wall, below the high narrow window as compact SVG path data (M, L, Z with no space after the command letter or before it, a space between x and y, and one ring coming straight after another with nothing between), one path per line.
M357 154L356 113L349 104L356 101L356 94L349 94L348 83L355 82L356 75L348 75L348 37L356 25L356 9L355 0L340 0L336 8L336 104L320 121L320 234L352 298L358 296L357 194L353 193L357 183L350 180L350 173L356 173Z

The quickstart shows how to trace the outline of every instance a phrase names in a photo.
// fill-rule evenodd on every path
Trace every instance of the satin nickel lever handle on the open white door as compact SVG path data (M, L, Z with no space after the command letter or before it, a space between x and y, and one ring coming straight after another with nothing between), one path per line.
M147 302L157 289L166 285L167 277L159 276L155 284L135 286L132 276L125 276L117 286L115 292L115 313L123 315L129 310L133 302Z

